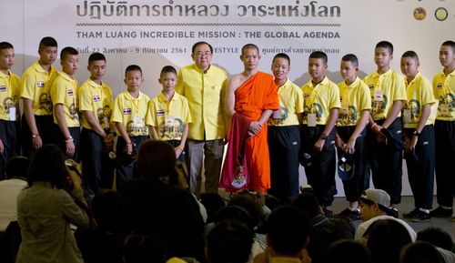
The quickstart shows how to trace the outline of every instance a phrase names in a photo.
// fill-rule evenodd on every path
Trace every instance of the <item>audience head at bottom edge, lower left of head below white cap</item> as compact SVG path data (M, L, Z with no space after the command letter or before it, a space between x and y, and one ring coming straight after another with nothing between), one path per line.
M369 249L359 241L339 240L330 245L325 263L369 263Z

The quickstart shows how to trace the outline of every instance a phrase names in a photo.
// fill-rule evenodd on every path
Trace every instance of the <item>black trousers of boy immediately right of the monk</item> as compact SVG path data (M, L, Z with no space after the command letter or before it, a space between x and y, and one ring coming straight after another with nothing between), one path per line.
M268 126L270 195L288 204L298 195L298 126Z

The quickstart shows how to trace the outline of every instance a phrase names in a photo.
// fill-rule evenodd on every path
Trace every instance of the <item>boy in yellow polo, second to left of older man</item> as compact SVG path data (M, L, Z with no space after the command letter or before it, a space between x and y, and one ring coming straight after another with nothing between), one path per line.
M139 91L144 82L140 66L126 67L126 91L116 96L112 119L116 124L118 140L116 154L122 165L117 177L124 179L136 177L134 157L139 146L148 139L146 125L147 105L150 98Z

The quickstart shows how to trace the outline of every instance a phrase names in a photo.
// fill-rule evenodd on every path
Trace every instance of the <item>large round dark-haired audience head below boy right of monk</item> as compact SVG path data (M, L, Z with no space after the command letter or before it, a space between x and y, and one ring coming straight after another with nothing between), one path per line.
M281 255L294 255L307 243L308 217L296 207L278 207L266 223L270 246Z

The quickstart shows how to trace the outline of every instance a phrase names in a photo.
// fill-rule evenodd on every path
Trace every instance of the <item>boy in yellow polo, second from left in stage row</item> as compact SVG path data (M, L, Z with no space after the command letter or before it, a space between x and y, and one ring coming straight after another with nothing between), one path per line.
M57 57L56 39L51 36L41 39L38 54L39 59L25 70L21 84L25 116L22 118L22 150L26 157L51 143L54 135L50 89L58 76L52 66Z

